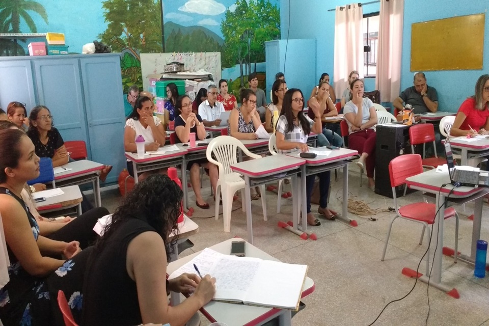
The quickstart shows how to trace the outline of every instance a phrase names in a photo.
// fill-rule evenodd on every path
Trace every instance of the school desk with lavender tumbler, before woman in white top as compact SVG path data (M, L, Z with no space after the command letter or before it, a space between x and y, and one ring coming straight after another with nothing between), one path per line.
M163 146L161 148L164 149L165 147L167 146ZM146 152L144 158L138 158L138 154L134 154L132 152L125 152L124 155L128 160L132 162L132 168L134 171L134 183L138 183L139 173L180 165L182 175L183 207L187 208L187 181L184 164L184 156L187 152L188 151L185 148L181 147L177 151L171 151L161 154Z

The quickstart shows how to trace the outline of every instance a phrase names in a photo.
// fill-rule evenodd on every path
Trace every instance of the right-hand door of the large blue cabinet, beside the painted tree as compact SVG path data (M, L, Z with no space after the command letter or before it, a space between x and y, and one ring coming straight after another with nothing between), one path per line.
M106 182L117 182L126 167L124 103L120 57L80 58L92 160L114 166Z

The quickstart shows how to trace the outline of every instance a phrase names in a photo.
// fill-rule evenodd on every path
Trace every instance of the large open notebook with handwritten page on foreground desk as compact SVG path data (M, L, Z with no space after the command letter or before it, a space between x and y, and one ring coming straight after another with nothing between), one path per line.
M214 300L281 309L298 309L307 273L307 265L229 256L206 248L169 279L197 274L194 264L202 276L215 277Z

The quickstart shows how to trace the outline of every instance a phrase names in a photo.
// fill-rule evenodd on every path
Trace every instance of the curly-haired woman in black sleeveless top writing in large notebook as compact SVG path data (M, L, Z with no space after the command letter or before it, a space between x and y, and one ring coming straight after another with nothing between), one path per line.
M215 279L184 274L166 281L182 191L166 175L151 175L126 195L95 244L83 286L83 321L90 326L184 325L215 293ZM176 241L174 239L173 241ZM167 293L194 292L178 306Z

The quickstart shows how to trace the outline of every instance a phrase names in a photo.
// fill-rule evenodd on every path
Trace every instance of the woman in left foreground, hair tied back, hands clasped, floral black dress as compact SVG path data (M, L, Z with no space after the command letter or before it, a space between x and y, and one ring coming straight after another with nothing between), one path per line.
M0 213L11 263L10 281L0 289L0 319L6 326L56 325L46 277L70 274L76 265L72 258L81 249L77 241L39 234L36 219L20 199L24 183L39 176L39 157L20 130L0 130L0 139ZM68 260L51 258L61 255Z

